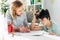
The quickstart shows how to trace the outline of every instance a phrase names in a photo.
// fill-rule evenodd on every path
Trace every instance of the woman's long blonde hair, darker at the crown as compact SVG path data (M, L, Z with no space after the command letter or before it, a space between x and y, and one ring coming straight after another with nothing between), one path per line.
M16 19L16 9L21 7L22 5L23 5L22 2L20 2L19 0L12 2L10 11L11 11L11 16L13 19Z

